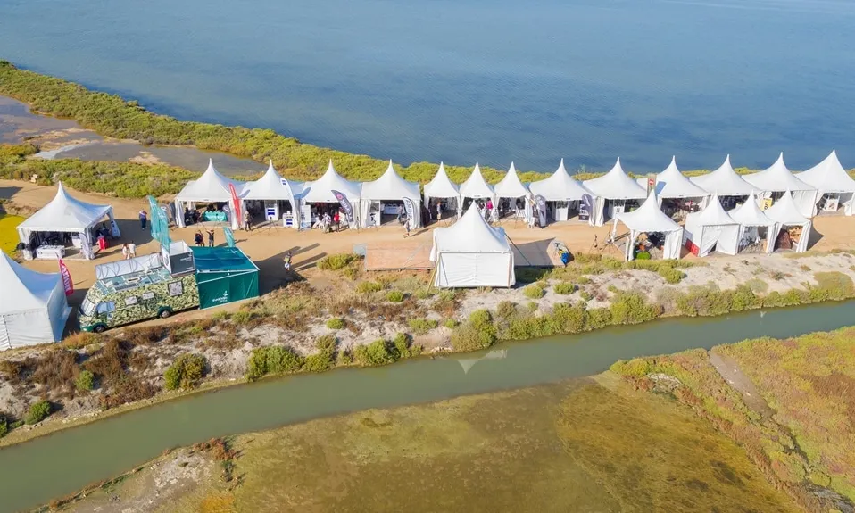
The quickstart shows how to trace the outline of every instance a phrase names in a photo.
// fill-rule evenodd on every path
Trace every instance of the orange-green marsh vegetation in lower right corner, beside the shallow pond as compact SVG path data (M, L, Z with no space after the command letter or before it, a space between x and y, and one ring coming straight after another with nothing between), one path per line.
M853 339L851 327L784 341L763 338L709 353L619 361L611 370L636 388L664 393L696 411L743 446L760 471L803 508L851 510Z

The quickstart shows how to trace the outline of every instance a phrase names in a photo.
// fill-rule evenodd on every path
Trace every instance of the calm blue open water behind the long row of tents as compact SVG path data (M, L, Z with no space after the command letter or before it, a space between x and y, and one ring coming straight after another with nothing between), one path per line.
M0 58L395 161L855 166L851 0L4 0Z

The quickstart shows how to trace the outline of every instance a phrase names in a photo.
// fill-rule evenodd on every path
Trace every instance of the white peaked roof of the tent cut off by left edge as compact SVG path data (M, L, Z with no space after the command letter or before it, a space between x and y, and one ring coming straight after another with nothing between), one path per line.
M0 315L46 308L62 279L59 273L41 273L23 267L4 253L0 257Z

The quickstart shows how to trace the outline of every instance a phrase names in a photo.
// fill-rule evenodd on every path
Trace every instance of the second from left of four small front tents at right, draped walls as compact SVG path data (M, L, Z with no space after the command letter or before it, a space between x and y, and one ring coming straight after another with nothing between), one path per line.
M683 240L688 250L699 257L710 254L712 248L735 255L739 236L739 223L727 215L716 194L713 194L712 201L703 210L685 218Z

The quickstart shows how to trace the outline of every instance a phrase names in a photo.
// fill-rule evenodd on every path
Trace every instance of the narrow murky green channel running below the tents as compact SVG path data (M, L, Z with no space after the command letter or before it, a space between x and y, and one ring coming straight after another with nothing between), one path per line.
M338 413L436 401L596 374L641 355L848 326L855 302L670 319L496 346L490 352L241 385L0 449L0 511L37 506L115 476L163 450Z

